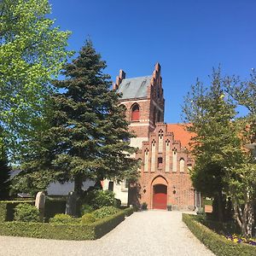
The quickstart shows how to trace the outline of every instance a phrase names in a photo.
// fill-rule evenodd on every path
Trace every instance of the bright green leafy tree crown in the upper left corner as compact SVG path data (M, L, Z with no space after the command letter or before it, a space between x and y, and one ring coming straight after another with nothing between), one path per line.
M15 157L19 149L28 151L36 131L44 131L49 82L70 55L70 32L54 26L46 18L50 12L48 0L0 2L0 125Z

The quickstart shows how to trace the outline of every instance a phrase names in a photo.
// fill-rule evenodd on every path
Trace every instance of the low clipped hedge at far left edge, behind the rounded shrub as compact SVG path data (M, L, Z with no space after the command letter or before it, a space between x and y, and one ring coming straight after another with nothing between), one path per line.
M13 220L15 217L15 207L20 203L34 205L35 201L0 201L0 223Z

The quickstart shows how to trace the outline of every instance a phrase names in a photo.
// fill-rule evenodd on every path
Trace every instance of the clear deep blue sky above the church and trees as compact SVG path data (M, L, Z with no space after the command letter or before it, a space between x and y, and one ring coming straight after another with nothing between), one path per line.
M181 122L181 105L196 78L212 67L247 78L256 68L255 0L49 0L51 18L73 32L69 49L90 36L113 80L150 75L158 61L166 123Z

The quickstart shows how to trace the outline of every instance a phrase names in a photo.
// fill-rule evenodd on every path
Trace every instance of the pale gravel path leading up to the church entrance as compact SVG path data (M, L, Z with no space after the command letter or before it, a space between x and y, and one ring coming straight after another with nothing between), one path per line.
M96 241L56 241L0 236L1 256L211 256L187 229L181 212L135 212Z

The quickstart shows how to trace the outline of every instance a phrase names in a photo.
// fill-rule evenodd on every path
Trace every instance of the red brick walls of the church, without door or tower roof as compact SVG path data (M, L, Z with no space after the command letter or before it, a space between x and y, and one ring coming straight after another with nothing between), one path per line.
M114 89L118 88L122 79L125 79L125 73L120 71L116 84L113 85ZM131 145L139 148L136 158L142 162L139 182L136 186L131 186L133 195L129 195L130 203L146 202L149 209L153 208L154 186L165 185L167 205L191 210L195 208L195 189L192 187L189 170L192 169L194 161L188 154L189 142L182 144L178 139L189 136L187 131L179 128L176 137L172 128L177 127L164 124L163 93L160 64L157 63L151 83L148 84L147 97L120 100L120 104L125 105L126 118L131 122L130 131L137 135L137 143ZM139 106L139 119L136 121L131 120L134 104ZM174 130L177 132L177 129Z

